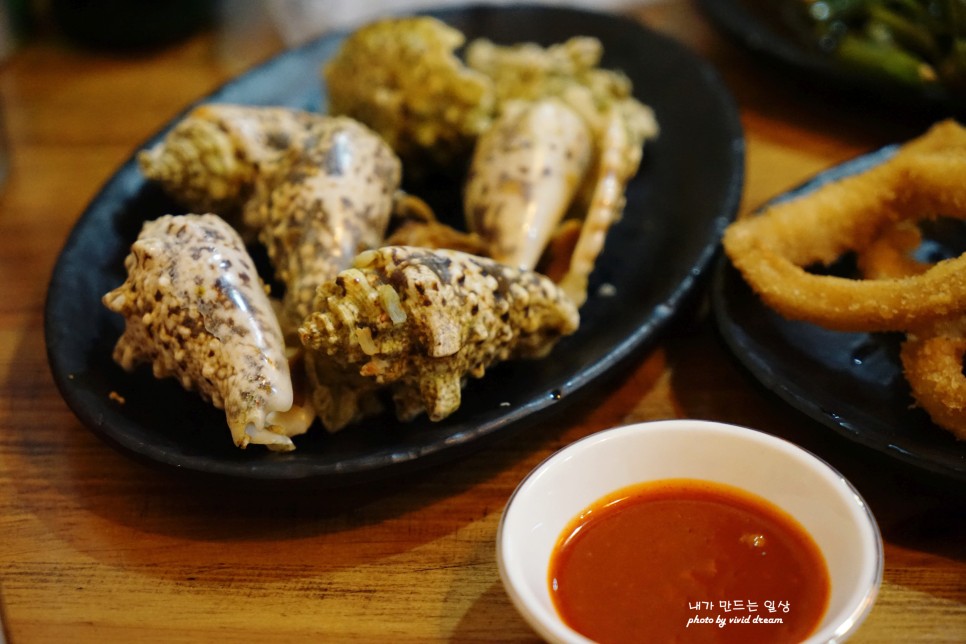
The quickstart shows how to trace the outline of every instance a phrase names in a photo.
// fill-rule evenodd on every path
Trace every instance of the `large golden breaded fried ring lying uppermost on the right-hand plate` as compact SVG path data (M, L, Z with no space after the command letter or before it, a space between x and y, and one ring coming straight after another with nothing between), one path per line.
M775 204L725 231L725 252L785 317L840 331L902 331L966 313L966 256L898 279L810 273L903 221L966 219L966 130L934 126L865 172Z

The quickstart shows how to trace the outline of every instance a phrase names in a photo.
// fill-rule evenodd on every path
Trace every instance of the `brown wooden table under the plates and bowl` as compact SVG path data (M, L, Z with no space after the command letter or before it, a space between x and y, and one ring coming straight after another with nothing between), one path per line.
M925 127L806 96L688 2L634 13L706 56L730 85L747 136L743 209ZM0 597L10 641L532 640L494 555L510 493L575 439L668 417L773 432L851 478L886 543L881 595L855 641L966 639L962 488L777 403L700 315L573 417L382 489L198 489L87 431L47 368L50 270L87 202L140 142L282 47L264 23L235 23L138 55L85 51L45 30L0 69L12 155L0 195Z

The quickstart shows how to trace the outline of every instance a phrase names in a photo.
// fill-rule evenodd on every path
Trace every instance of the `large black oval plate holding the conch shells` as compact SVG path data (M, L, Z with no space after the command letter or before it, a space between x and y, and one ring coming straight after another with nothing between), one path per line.
M46 305L54 378L94 432L148 462L221 478L322 485L378 479L453 458L484 437L540 419L652 343L684 307L710 271L721 231L737 211L743 179L737 110L715 71L680 44L616 15L532 6L434 15L468 38L502 43L546 45L577 34L596 36L605 45L603 65L623 69L637 96L656 112L660 138L649 144L628 188L624 217L592 276L579 332L548 359L500 365L470 382L462 407L443 422L404 425L386 415L334 435L312 431L297 439L291 453L239 450L222 412L171 380L155 380L149 369L126 374L111 360L122 320L100 297L124 280L123 258L141 223L181 212L145 182L132 157L71 232ZM204 100L322 109L320 66L342 40L343 35L328 35L287 51ZM457 194L458 187L449 190ZM597 294L604 283L616 295ZM125 403L112 401L111 392Z

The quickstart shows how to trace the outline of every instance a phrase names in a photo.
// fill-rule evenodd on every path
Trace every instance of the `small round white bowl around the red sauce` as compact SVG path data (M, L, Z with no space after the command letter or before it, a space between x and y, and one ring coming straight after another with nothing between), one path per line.
M561 449L510 497L497 533L500 577L541 637L589 641L564 623L551 594L550 562L564 529L602 497L666 479L739 488L777 506L812 537L828 567L829 601L808 642L847 639L872 609L882 582L882 538L865 501L841 474L763 432L700 420L656 421L601 431ZM681 629L687 635L685 624Z

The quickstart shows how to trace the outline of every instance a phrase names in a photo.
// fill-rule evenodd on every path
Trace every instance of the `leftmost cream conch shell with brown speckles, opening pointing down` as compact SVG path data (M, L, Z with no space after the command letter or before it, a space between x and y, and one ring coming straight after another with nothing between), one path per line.
M166 215L144 224L124 266L102 298L125 320L114 360L150 363L224 409L239 447L295 449L314 416L293 409L282 332L238 233L215 215Z

